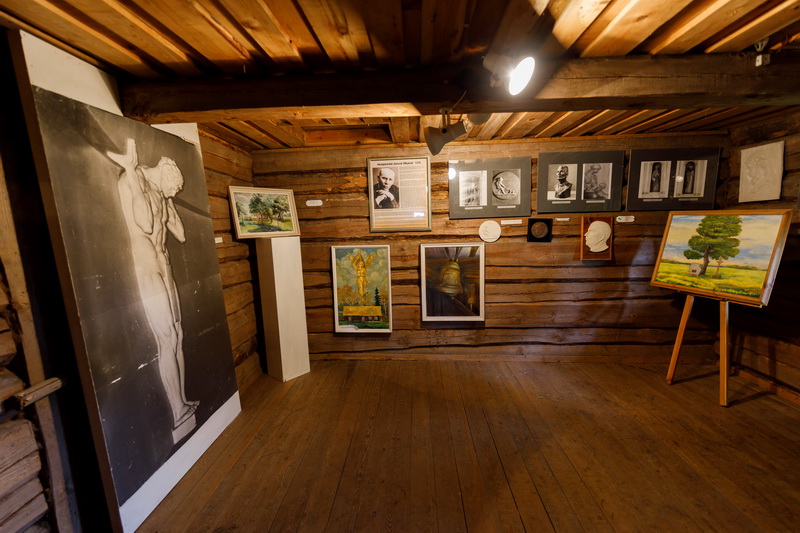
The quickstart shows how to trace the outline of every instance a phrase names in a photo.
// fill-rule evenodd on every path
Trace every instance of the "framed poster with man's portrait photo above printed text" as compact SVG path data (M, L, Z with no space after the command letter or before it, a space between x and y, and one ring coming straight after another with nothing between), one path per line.
M367 159L369 230L431 230L429 157Z

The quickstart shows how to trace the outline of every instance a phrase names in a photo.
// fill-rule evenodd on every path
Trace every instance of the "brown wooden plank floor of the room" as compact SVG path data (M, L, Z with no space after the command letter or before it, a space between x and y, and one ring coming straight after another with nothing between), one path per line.
M716 368L319 361L141 531L796 531L800 408Z

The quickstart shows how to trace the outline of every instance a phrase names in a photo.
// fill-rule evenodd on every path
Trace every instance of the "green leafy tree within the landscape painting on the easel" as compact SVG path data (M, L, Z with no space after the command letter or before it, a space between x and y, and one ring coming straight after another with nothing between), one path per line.
M697 226L697 234L689 238L689 250L684 250L687 259L702 259L700 275L705 276L708 263L717 262L715 278L719 278L722 262L739 254L739 239L742 232L742 217L738 215L709 215Z

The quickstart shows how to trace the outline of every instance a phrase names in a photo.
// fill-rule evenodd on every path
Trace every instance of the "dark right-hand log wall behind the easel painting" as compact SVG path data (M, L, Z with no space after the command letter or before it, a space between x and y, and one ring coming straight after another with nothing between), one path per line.
M739 203L741 148L784 141L780 200ZM721 207L795 209L789 238L769 304L761 309L731 306L732 361L762 386L800 401L800 113L731 132L730 179L717 191Z

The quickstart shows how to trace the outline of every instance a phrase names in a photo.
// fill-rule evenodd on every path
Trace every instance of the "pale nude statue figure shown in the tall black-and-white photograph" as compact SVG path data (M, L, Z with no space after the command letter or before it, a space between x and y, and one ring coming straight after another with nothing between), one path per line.
M117 189L131 240L131 258L147 321L156 339L158 369L172 409L173 430L187 422L200 402L186 399L183 328L178 288L169 263L167 238L186 241L173 198L183 188L183 174L172 159L155 167L139 165L136 141L122 154L107 152L122 167Z

